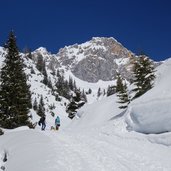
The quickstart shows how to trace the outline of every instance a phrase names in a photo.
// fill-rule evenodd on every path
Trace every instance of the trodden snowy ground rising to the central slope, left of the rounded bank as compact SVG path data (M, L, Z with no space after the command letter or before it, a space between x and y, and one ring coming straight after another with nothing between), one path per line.
M170 171L171 134L128 132L122 117L115 117L121 110L114 100L84 106L58 132L7 131L0 136L0 166L8 171Z

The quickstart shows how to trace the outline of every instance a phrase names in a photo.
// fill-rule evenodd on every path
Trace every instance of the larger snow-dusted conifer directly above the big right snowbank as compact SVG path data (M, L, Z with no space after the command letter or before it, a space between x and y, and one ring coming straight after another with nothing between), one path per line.
M154 66L150 59L145 55L141 55L135 62L133 72L135 77L133 84L136 86L133 90L135 91L134 99L152 88L155 75Z

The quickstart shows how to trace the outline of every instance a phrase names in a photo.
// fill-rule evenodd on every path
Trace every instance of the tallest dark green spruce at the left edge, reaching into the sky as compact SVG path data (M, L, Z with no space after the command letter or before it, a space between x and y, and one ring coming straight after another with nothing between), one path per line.
M0 127L16 128L29 124L31 94L13 32L9 34L5 49L0 77Z

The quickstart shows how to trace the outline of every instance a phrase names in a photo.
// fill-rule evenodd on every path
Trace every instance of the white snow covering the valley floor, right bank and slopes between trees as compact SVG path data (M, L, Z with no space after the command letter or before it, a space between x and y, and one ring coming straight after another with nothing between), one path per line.
M32 61L25 61L34 66ZM170 171L171 170L171 59L157 68L154 88L133 101L128 110L118 108L115 95L98 99L82 107L73 120L69 120L64 103L56 102L41 80L42 75L34 66L35 75L28 77L34 97L45 98L47 127L41 131L20 127L4 130L0 136L0 171ZM25 71L28 75L30 67ZM71 73L67 73L68 76ZM55 80L55 78L51 78ZM78 85L90 87L77 80ZM103 84L103 85L102 85ZM97 90L104 82L91 84ZM93 97L92 97L93 98ZM48 104L61 118L59 131L50 130L54 117ZM31 111L33 120L39 117ZM142 134L161 133L162 134ZM3 161L5 154L7 161Z

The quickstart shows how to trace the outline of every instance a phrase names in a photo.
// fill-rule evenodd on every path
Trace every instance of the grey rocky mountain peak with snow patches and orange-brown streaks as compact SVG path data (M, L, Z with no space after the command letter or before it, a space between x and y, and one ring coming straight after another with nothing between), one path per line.
M116 78L131 79L131 66L135 55L114 38L95 37L92 40L60 49L59 62L81 80L97 82Z

